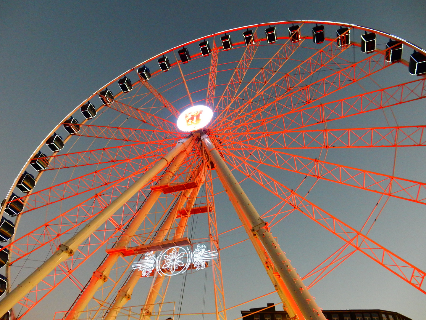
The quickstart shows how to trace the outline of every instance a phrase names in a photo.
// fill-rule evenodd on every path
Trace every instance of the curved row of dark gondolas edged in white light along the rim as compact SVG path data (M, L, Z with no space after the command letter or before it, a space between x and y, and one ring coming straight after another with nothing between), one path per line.
M350 44L350 32L351 29L349 29L348 27L340 27L340 29L336 31L336 42L338 47L345 48ZM245 44L247 46L252 45L254 44L254 41L257 41L254 38L253 30L246 30L242 34ZM277 41L276 27L270 26L269 28L265 29L265 35L268 44L275 43ZM300 34L300 26L292 25L291 27L289 27L288 37L291 42L299 42L302 39L302 36ZM324 26L316 25L312 28L312 40L316 44L321 44L324 42ZM225 34L220 38L220 41L222 42L223 50L227 51L233 48L233 43L231 41L230 35ZM208 56L212 52L209 41L200 42L199 47L201 55L203 56ZM375 52L375 50L376 34L373 32L366 32L365 34L361 35L361 51L365 53L372 53ZM386 61L400 61L402 59L402 52L403 43L400 41L393 41L389 39L389 42L386 44ZM180 49L178 51L178 54L181 63L185 64L191 60L188 48L184 47ZM165 55L158 59L158 65L162 72L166 72L171 68L170 61ZM142 81L147 81L151 79L150 69L145 65L138 68L137 73ZM412 75L422 75L426 73L426 57L422 53L414 51L413 54L410 56L409 73L411 73ZM123 91L123 93L127 93L132 90L132 82L126 76L118 80L118 86ZM112 102L114 102L114 95L108 88L105 88L99 93L99 98L101 99L101 102L104 105L110 105ZM92 119L96 116L96 108L90 102L87 102L86 104L82 105L80 111L85 119ZM63 128L70 135L76 134L80 131L80 125L77 119L73 117L70 117L69 119L63 122ZM60 135L54 133L46 141L46 145L55 154L63 148L64 140ZM49 166L49 157L47 157L46 154L43 154L43 152L38 151L35 157L30 161L30 165L38 172L43 171ZM17 181L16 187L23 193L28 193L35 187L35 183L36 178L29 172L25 171ZM5 201L3 201L2 205L4 204L4 202ZM14 217L23 211L24 206L25 204L23 198L16 195L15 193L12 193L12 196L9 198L9 201L6 204L4 211L9 216ZM14 231L15 227L13 222L3 217L0 221L0 242L6 242L10 238L12 238ZM0 246L0 248L2 247ZM8 261L9 250L5 248L0 251L0 268L6 265ZM3 295L3 293L6 291L6 283L6 277L0 274L0 296Z

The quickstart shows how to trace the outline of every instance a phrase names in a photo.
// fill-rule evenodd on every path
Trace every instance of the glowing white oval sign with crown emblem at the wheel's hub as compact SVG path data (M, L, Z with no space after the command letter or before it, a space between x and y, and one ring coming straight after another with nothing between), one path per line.
M194 105L181 113L176 125L182 131L196 131L204 128L212 117L213 111L209 107L205 105Z

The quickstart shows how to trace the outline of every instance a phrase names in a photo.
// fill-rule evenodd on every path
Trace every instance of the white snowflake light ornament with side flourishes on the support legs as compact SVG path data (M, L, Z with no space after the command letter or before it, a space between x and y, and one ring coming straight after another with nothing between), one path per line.
M184 247L171 247L161 251L157 257L150 251L137 262L134 262L132 269L142 271L141 276L150 276L155 270L164 276L176 276L188 270L191 262L196 270L206 268L206 262L217 259L219 253L214 250L206 250L205 244L198 244L194 252Z

